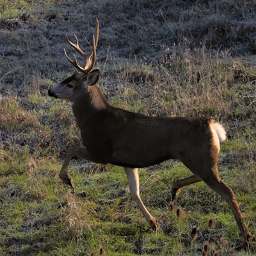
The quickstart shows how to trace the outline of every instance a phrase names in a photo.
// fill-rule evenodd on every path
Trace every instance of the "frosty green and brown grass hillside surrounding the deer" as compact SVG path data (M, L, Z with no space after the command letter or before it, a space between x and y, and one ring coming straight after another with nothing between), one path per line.
M74 69L65 34L89 51L100 20L99 86L114 106L145 115L211 116L227 129L220 176L255 237L254 1L1 1L0 255L219 255L236 250L228 205L204 183L183 188L170 211L177 161L140 170L141 198L159 221L150 230L122 168L74 159L77 196L61 183L65 153L81 145L68 102L47 90ZM70 49L68 49L70 51ZM81 59L80 59L81 60ZM214 225L209 227L209 221ZM196 237L191 232L196 228Z

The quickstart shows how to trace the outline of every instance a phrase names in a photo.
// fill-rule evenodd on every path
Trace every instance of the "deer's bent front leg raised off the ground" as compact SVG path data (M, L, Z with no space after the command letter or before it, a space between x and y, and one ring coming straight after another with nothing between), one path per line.
M70 175L68 174L68 165L73 156L78 156L82 159L86 159L88 161L92 161L94 163L102 163L103 161L99 161L97 157L92 156L90 152L88 152L87 148L81 147L72 147L68 150L64 163L61 167L61 171L59 174L60 179L63 183L67 184L71 188L74 188L74 182L72 181Z

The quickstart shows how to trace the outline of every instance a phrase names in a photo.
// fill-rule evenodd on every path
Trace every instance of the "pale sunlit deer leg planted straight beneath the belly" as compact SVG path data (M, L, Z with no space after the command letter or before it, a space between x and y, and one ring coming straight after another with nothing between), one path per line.
M140 208L141 212L145 216L148 224L153 229L158 227L157 220L148 212L147 208L143 204L140 198L140 181L139 181L139 173L138 168L124 168L125 173L127 175L127 179L130 186L131 196L132 199L137 203L138 207Z

